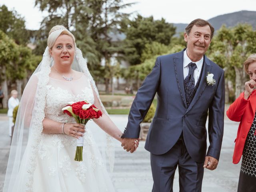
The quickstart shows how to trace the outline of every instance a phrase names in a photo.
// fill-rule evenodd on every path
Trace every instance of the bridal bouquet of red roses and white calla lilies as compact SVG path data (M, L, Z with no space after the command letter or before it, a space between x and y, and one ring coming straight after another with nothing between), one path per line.
M87 100L69 102L69 105L62 108L62 111L68 114L68 116L74 117L77 123L83 124L84 126L90 119L98 119L102 116L102 112ZM74 158L75 161L83 160L83 145L84 138L80 137L76 142L76 155Z

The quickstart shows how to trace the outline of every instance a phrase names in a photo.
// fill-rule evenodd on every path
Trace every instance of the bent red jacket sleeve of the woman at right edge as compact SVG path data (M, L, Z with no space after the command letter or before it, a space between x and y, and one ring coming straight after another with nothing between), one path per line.
M227 110L227 116L230 120L240 122L246 109L247 104L249 103L250 97L248 100L244 98L244 92L230 105Z

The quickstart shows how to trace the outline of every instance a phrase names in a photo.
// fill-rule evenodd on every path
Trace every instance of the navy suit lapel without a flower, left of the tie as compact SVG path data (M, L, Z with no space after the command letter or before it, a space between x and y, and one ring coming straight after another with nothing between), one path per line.
M173 61L174 61L174 71L176 74L176 81L180 91L180 96L182 97L182 100L186 107L186 97L185 97L184 77L183 77L183 51L178 52L178 55L175 58L173 58Z

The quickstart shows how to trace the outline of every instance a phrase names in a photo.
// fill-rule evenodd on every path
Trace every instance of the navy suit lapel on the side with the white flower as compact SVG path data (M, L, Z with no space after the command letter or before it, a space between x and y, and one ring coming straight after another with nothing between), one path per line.
M212 70L212 65L210 64L208 58L206 56L204 56L204 64L203 64L203 68L202 68L202 75L200 78L200 82L199 82L198 88L196 90L196 93L194 95L194 98L192 99L190 105L188 106L186 113L194 106L194 104L196 104L196 102L198 101L198 99L200 98L202 93L204 92L204 88L206 86L206 76L208 73L211 72L211 70Z

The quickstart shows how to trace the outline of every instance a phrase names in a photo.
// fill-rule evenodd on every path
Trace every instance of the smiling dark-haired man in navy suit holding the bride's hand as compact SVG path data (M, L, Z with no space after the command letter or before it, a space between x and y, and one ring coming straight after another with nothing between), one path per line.
M130 152L135 150L140 122L157 93L156 113L145 143L150 152L152 192L172 191L177 166L180 191L200 192L204 168L214 170L218 165L224 125L224 71L204 55L213 34L214 28L206 20L188 24L184 33L187 48L159 56L132 103L122 135L122 146ZM206 154L208 115L210 146Z

